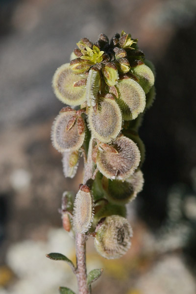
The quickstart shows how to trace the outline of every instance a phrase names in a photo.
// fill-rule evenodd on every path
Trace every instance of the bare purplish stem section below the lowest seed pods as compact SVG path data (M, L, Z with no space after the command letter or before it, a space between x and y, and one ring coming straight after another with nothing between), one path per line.
M90 289L87 286L86 274L86 236L85 234L76 233L76 262L77 262L77 285L79 294L90 294Z

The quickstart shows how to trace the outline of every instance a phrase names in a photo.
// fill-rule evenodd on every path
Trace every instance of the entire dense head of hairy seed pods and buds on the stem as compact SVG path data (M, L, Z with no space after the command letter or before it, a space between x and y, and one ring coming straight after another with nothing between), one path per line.
M63 155L65 177L73 178L80 156L85 165L76 197L63 196L63 225L94 236L105 258L119 258L130 246L125 204L143 188L138 129L154 99L153 85L153 65L124 31L111 41L104 34L94 44L81 39L71 62L53 76L56 97L69 105L53 123L53 146Z

